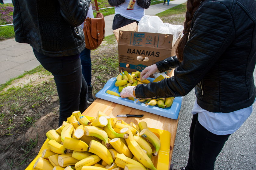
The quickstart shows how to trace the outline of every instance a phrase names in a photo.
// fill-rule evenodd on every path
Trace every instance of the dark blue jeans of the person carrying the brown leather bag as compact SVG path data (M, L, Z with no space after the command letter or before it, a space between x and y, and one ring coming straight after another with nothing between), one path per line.
M85 48L80 53L82 72L88 86L91 86L91 50Z

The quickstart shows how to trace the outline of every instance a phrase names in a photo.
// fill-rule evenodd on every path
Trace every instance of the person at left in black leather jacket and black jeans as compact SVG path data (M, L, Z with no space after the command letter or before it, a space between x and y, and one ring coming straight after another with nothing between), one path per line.
M41 65L52 73L59 95L59 126L73 111L87 108L87 85L80 52L91 0L12 0L15 39L28 43Z

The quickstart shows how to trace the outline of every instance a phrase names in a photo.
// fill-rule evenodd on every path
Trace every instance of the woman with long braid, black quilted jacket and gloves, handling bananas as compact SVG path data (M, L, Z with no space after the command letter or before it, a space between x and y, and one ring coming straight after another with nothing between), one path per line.
M188 0L183 37L171 56L146 67L141 78L174 69L160 82L125 87L121 97L185 96L195 89L190 151L185 168L213 170L230 134L251 115L256 97L255 0Z

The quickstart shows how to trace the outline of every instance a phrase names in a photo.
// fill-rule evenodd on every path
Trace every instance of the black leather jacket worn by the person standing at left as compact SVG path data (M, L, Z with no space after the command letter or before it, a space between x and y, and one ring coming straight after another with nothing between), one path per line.
M84 22L91 0L12 0L17 42L47 56L70 56L84 48Z

